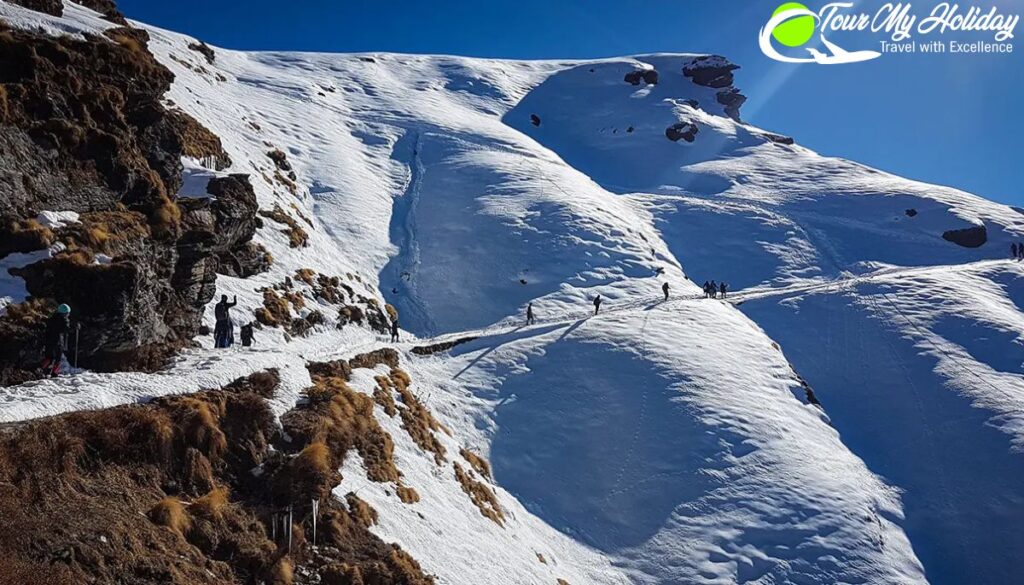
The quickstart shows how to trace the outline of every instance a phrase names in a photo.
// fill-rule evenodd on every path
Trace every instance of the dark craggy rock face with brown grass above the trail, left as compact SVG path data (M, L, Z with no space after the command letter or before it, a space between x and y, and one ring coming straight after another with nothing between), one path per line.
M258 222L248 178L211 181L215 200L175 200L181 156L222 153L219 138L164 109L173 74L144 31L106 36L0 30L0 253L66 247L17 270L36 310L0 316L3 384L38 367L42 320L60 302L82 325L81 366L158 368L198 333L222 259L259 264L248 257ZM81 223L41 229L31 218L43 210L77 211Z

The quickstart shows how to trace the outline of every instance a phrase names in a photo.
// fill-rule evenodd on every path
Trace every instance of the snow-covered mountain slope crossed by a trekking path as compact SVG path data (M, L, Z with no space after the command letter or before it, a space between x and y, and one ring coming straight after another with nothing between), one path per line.
M51 26L99 26L89 14L68 4ZM420 500L368 478L354 453L336 493L371 503L373 530L438 582L1013 581L1024 270L992 259L1024 216L731 119L730 82L683 74L724 59L214 48L211 62L194 39L147 30L176 75L168 103L220 136L224 172L249 173L262 209L308 236L292 247L294 228L267 218L257 240L273 266L220 277L218 294L238 294L246 321L261 289L311 268L394 305L419 337L396 346L451 430L436 433L451 461L378 406ZM647 70L656 84L627 81ZM182 195L210 173L189 162ZM980 247L943 239L980 226ZM735 304L698 298L690 279L729 283ZM523 327L531 301L540 323ZM336 322L328 312L302 339L263 329L255 351L202 339L154 376L4 388L0 418L266 367L284 372L285 412L310 383L307 361L385 344ZM501 523L455 476L463 448L489 459Z

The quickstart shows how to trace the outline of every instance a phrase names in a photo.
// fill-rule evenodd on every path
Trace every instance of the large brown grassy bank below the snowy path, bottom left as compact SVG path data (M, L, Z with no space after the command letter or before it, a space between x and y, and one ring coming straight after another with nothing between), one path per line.
M373 579L366 583L433 583L367 530L371 511L334 498L322 502L319 546L311 547L311 523L299 519L308 494L289 486L293 462L317 449L282 441L261 395L273 380L268 372L221 390L0 429L0 516L17 527L0 532L0 582L289 584L347 568ZM197 417L213 428L197 433ZM183 492L184 454L214 430L227 440L210 459L215 486ZM300 512L291 549L269 529L289 505Z

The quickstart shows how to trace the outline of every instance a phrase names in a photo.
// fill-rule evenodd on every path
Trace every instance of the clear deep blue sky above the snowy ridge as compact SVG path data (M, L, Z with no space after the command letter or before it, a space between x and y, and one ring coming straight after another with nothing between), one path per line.
M1024 24L1010 55L887 54L855 65L775 62L758 30L780 0L120 0L131 18L237 49L486 57L713 52L742 66L743 117L825 155L1024 207ZM805 2L817 10L823 2ZM914 1L930 11L937 0ZM874 12L883 0L860 0ZM963 0L969 6L972 0ZM981 7L1024 15L1021 0ZM990 40L991 34L946 39ZM932 38L938 38L937 36ZM877 36L835 33L845 48Z

